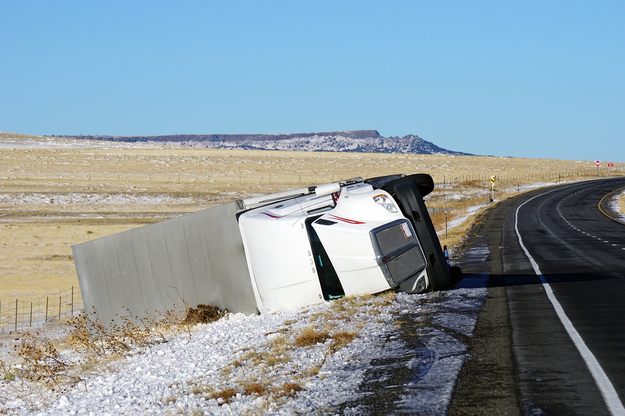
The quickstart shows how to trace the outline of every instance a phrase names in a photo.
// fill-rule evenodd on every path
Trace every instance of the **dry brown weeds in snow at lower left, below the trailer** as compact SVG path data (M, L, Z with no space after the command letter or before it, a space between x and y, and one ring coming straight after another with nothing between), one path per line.
M101 372L133 349L166 342L183 326L173 313L161 320L121 317L121 324L111 327L101 325L95 314L93 319L82 314L59 326L61 332L53 335L12 332L13 352L0 358L0 381L21 379L24 391L42 385L53 394L64 394L82 385L86 373Z

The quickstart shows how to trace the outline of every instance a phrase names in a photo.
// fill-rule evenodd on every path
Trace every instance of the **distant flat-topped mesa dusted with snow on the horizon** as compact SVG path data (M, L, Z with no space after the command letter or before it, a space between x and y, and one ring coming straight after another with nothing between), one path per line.
M211 149L467 155L436 146L414 134L382 137L376 130L291 134L173 134L169 136L61 136L116 142L163 142Z

